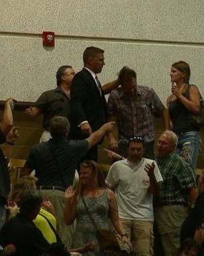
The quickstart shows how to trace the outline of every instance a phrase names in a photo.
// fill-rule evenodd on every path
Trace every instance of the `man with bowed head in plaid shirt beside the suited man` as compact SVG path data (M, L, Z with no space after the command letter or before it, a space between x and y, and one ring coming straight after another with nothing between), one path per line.
M153 113L161 113L165 129L168 129L167 110L152 88L137 85L136 72L133 69L123 67L118 80L121 87L110 93L108 115L110 120L116 117L119 143L114 135L109 133L109 145L111 149L118 148L118 153L127 157L128 139L140 135L146 144L145 157L154 159Z

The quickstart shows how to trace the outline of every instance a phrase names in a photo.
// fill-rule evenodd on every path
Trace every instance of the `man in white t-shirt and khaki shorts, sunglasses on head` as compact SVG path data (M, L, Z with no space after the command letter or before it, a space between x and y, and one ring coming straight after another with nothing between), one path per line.
M163 181L157 163L143 158L144 140L132 137L128 158L110 167L106 183L114 189L119 216L136 255L153 255L153 194Z

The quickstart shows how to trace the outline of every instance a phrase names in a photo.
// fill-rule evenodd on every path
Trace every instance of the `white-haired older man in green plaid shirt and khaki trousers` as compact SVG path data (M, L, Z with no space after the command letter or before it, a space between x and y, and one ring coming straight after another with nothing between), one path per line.
M173 153L177 136L165 131L157 143L157 165L163 177L159 197L155 199L155 226L161 238L164 256L177 255L180 230L187 206L197 196L195 173L179 155Z

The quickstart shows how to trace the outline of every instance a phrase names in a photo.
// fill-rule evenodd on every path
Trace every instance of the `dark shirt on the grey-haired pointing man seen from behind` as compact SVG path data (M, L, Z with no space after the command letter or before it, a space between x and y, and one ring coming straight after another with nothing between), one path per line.
M38 185L66 188L72 185L75 169L87 150L86 140L68 141L65 137L51 138L31 149L25 167L35 169L39 179Z

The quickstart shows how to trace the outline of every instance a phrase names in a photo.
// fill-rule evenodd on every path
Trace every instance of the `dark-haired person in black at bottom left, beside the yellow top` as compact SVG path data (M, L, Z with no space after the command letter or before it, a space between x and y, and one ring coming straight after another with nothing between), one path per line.
M37 189L24 191L19 202L19 213L3 225L0 241L3 247L13 244L16 247L15 256L39 256L47 252L51 255L51 248L53 256L70 255L58 243L50 245L33 223L42 203L43 197Z

